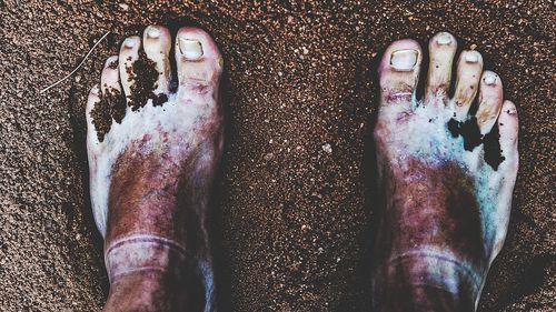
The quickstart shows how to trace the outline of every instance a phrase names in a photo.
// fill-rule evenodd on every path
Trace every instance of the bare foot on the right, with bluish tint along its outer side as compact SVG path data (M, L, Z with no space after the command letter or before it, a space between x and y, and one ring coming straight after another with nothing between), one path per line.
M374 279L379 311L438 309L430 290L454 308L475 309L506 236L518 167L516 108L503 101L500 78L483 71L477 51L460 53L448 95L456 46L446 32L430 40L423 101L417 42L394 42L379 66L375 141L386 199ZM394 302L396 292L408 296Z

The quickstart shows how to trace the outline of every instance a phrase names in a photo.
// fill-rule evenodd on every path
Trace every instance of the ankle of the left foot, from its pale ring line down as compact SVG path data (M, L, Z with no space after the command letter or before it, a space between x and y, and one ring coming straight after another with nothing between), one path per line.
M107 245L105 261L105 311L178 311L183 303L187 254L173 241L136 233Z

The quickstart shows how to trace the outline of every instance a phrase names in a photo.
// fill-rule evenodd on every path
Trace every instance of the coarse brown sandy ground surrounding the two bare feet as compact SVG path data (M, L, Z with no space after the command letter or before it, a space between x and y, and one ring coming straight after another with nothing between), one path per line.
M125 36L150 23L202 26L226 59L229 124L211 221L222 310L369 310L374 64L393 40L447 30L483 52L520 114L512 224L481 311L554 311L550 1L145 2L0 1L1 311L101 309L86 95ZM106 31L75 77L39 94Z

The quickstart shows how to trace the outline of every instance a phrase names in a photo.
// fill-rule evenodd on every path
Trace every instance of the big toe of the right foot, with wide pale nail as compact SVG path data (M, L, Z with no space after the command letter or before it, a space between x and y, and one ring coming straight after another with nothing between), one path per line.
M423 52L411 39L393 42L378 67L381 105L410 105L415 99Z

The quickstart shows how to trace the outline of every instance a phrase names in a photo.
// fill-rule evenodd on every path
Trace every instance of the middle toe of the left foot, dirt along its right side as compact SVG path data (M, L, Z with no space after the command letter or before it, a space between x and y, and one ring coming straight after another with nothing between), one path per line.
M137 83L137 77L133 72L133 63L139 59L140 47L141 39L138 36L133 36L126 38L120 48L119 69L121 87L123 88L123 93L126 94L128 102L131 99L131 88Z

